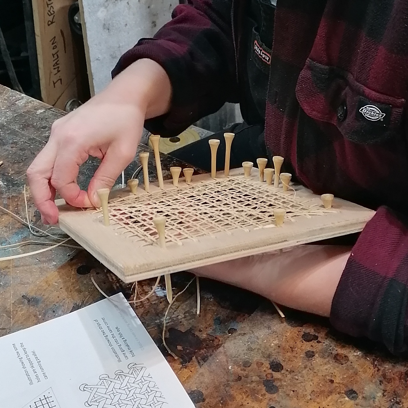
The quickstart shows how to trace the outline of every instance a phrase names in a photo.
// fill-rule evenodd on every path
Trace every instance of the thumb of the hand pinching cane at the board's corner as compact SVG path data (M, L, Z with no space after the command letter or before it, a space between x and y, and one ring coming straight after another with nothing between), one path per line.
M97 191L100 188L112 188L120 173L134 159L135 153L136 146L128 146L123 143L109 146L102 163L95 171L88 186L88 197L95 207L100 207Z

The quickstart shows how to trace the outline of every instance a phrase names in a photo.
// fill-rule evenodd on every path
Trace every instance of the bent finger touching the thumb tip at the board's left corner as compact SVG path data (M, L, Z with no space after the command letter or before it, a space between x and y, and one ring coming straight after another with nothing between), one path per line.
M76 182L79 167L86 162L88 154L77 146L59 149L51 175L51 186L61 197L74 207L92 207L86 191L80 189Z

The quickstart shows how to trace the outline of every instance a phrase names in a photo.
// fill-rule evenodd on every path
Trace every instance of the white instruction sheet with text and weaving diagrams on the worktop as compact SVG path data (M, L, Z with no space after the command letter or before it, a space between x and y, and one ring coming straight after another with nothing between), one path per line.
M194 408L122 295L0 337L0 408Z

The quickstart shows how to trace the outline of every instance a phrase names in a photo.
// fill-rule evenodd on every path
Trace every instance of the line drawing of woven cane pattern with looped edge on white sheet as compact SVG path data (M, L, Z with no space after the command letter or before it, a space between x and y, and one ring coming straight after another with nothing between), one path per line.
M142 364L129 364L128 372L103 374L95 385L82 384L80 390L89 393L86 407L98 408L164 408L162 392Z

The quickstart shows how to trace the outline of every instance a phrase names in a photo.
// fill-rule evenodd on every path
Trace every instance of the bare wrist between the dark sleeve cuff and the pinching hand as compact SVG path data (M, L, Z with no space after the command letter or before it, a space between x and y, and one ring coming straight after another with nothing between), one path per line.
M109 102L133 104L150 119L169 111L171 92L166 71L153 60L142 59L116 76L100 96Z

